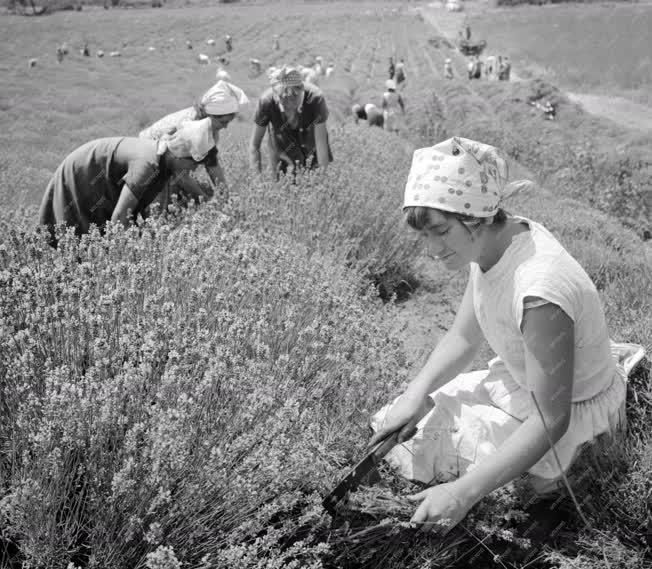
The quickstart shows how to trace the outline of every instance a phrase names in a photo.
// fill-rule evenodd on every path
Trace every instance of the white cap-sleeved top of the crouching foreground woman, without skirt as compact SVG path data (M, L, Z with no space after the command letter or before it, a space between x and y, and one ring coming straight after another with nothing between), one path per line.
M530 231L517 234L487 272L471 263L476 318L510 375L528 389L521 333L523 299L541 297L574 322L573 403L609 387L616 371L604 311L595 285L579 263L542 225L524 217Z

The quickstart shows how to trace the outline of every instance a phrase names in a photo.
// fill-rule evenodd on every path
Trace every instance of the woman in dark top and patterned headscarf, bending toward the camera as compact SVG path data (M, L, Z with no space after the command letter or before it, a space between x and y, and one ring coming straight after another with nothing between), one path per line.
M333 160L328 142L328 107L319 88L304 83L296 67L284 65L270 76L258 100L249 144L250 165L261 172L260 145L268 132L275 175L297 167L325 168Z

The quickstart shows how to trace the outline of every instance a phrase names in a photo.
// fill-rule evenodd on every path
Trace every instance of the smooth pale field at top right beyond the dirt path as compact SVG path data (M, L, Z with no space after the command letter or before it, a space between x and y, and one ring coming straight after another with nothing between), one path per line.
M509 55L519 75L652 105L652 4L471 10L469 22L487 52Z

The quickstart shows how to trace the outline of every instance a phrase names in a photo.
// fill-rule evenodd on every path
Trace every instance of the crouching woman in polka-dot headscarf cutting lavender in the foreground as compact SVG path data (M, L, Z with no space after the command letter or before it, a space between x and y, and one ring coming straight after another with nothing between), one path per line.
M411 497L414 522L455 525L525 473L538 494L556 491L557 459L566 473L585 443L626 425L621 364L643 348L612 343L584 269L544 226L502 209L527 185L508 183L486 144L455 137L414 152L407 223L445 268L469 271L452 327L372 419L371 443L395 431L402 442L416 426L388 458L408 478L440 482ZM485 339L497 354L489 369L462 373Z

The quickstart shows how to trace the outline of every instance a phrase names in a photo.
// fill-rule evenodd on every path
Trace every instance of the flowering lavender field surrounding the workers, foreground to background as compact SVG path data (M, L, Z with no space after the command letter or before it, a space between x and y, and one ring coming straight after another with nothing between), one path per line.
M504 146L545 179L569 162L568 131L625 135L569 105L563 121L542 121L525 102L531 86L471 89L443 80L443 60L454 52L430 46L432 28L396 8L292 5L272 18L262 6L84 10L0 22L9 39L0 47L0 433L13 443L3 440L9 450L0 455L0 560L20 551L53 569L68 561L176 569L176 559L197 569L416 569L424 559L445 566L466 555L460 567L483 567L479 540L503 548L506 561L527 555L510 533L519 506L501 493L468 520L475 537L415 536L401 525L409 507L398 504L414 487L389 472L371 509L350 512L348 526L323 516L320 496L359 456L369 414L419 363L401 349L400 308L366 294L369 276L385 269L400 279L419 265L400 219L409 142L462 130ZM225 33L234 37L233 81L254 97L265 78L249 77L250 57L263 67L334 60L336 75L323 85L334 167L294 187L255 182L246 167L248 113L220 140L233 188L225 216L213 203L155 223L142 237L131 230L69 243L60 254L43 248L26 229L33 218L13 208L33 212L50 173L77 145L135 135L195 100L215 72L196 54L222 53ZM275 33L279 52L269 49ZM85 40L104 59L79 55ZM72 53L57 65L63 41ZM113 49L122 57L109 58ZM390 54L408 65L410 141L339 124L353 102L379 101ZM30 57L39 57L35 68ZM463 70L463 60L455 65ZM571 175L596 168L590 153L573 160ZM649 353L649 245L587 207L586 196L569 197L571 185L517 197L509 209L559 237L596 283L612 337ZM417 274L436 299L420 318L427 311L445 329L466 275ZM411 302L421 299L417 291ZM474 366L485 367L487 357L484 350ZM601 468L617 474L600 478L593 465L597 480L578 489L592 529L563 514L570 523L547 549L555 567L605 559L614 568L645 567L650 403L641 372L630 389L623 454L602 457ZM514 518L502 518L512 506ZM531 527L526 519L521 530Z

